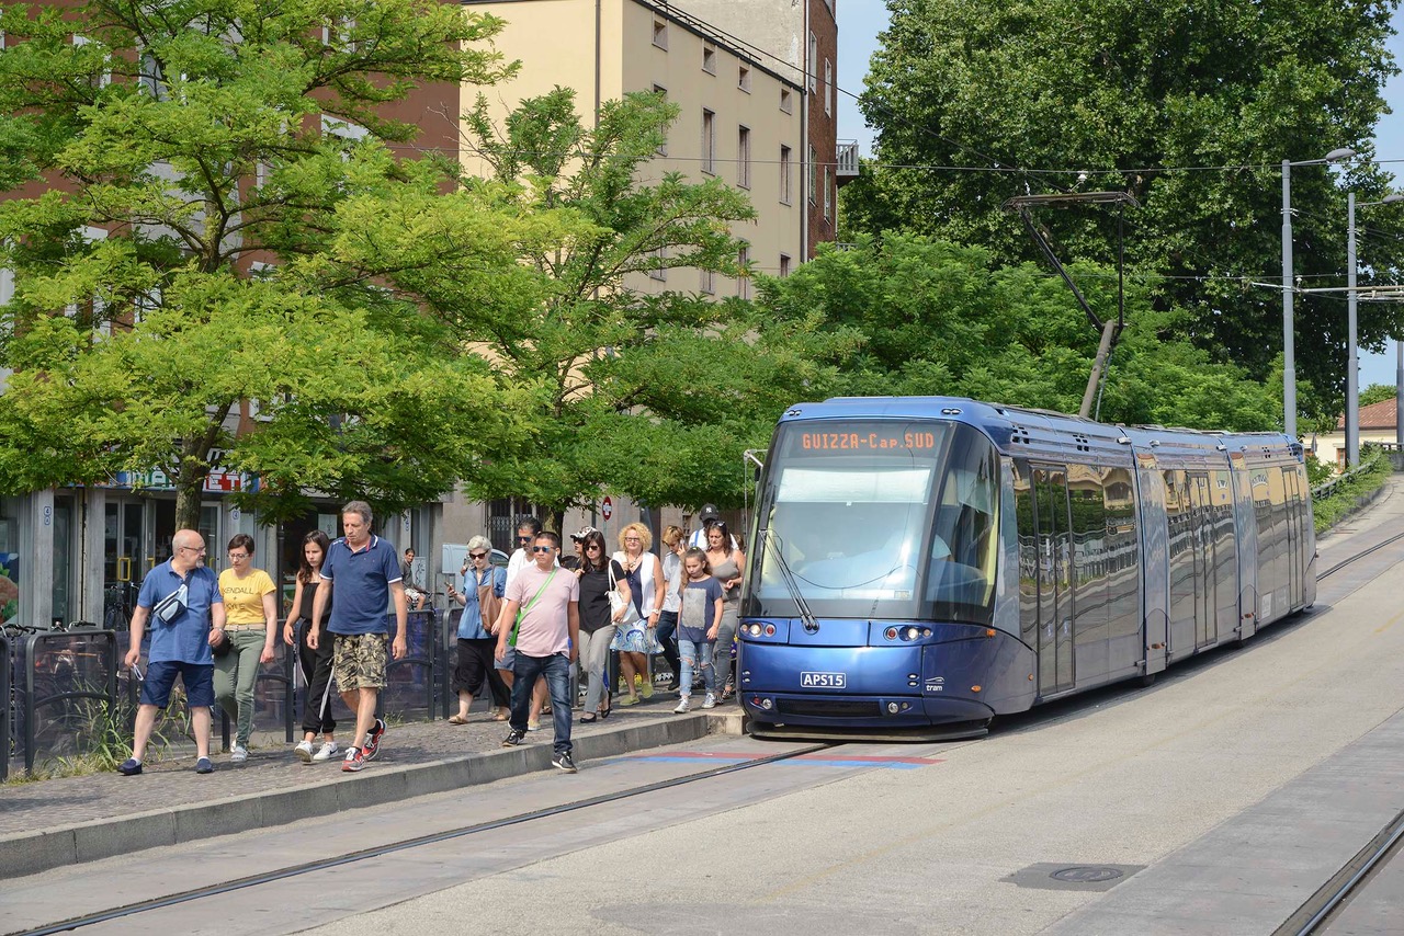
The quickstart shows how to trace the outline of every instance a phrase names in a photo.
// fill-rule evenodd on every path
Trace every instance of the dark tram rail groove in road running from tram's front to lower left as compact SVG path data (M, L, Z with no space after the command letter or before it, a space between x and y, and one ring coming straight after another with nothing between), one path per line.
M431 832L427 835L417 835L411 838L397 839L395 842L388 842L383 845L376 845L372 848L347 852L344 855L337 855L331 857L323 857L313 862L306 862L302 864L293 864L288 867L275 869L271 871L264 871L260 874L250 874L246 877L239 877L229 881L222 881L219 884L208 884L202 887L190 888L185 891L178 891L176 894L167 894L163 897L153 897L143 901L136 901L125 907L117 907L111 909L97 911L91 914L83 914L80 916L73 916L55 923L45 923L44 926L14 930L8 936L49 936L52 933L69 933L80 930L88 926L95 926L100 923L107 923L112 921L119 921L125 918L139 916L140 914L147 914L153 911L160 911L171 907L178 907L181 904L190 904L199 900L206 900L212 897L220 897L225 894L243 891L249 888L263 887L277 881L285 881L288 878L303 877L309 874L316 874L319 871L327 871L347 864L354 864L358 862L365 862L371 859L385 857L388 855L395 855L400 852L409 852L418 848L425 848L431 845L439 845L444 842L451 842L455 839L468 838L472 835L480 835L484 832L493 832L496 829L503 829L514 825L522 825L528 822L535 822L541 820L549 820L553 817L564 815L569 813L577 813L581 810L588 810L592 807L607 805L618 803L621 800L629 800L639 796L646 796L650 793L658 793L663 790L670 790L691 783L698 783L703 780L712 780L716 777L727 776L731 773L739 773L741 770L750 770L753 768L761 768L772 763L779 763L783 761L792 761L795 758L802 758L812 754L819 754L821 751L830 751L833 748L842 747L838 742L816 742L804 745L793 751L785 751L781 754L772 754L768 756L755 758L751 761L743 761L739 763L724 763L722 766L712 768L709 770L702 770L699 773L688 773L678 777L670 777L665 780L656 780L653 783L644 783L639 786L626 787L623 790L615 790L611 793L602 793L598 796L587 797L583 800L576 800L571 803L562 803L557 805L545 807L541 810L531 810L526 813L518 813L514 815L507 815L497 820L490 820L486 822L475 822L472 825L462 825L452 829L444 829L439 832Z

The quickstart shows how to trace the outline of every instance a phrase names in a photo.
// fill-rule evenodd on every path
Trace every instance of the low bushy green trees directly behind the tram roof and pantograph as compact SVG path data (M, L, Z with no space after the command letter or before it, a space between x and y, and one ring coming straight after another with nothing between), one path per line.
M1116 314L1115 271L1078 264L1088 300ZM1133 323L1112 355L1101 400L1111 422L1269 429L1280 404L1262 383L1175 337L1148 289L1126 297ZM1033 264L997 267L983 247L914 234L821 248L786 279L764 279L768 320L819 317L835 338L823 393L951 394L1077 411L1097 333L1060 279ZM816 327L816 326L810 326Z

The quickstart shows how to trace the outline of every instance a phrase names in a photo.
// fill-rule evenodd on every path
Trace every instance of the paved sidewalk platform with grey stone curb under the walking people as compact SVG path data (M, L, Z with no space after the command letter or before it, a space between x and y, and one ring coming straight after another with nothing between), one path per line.
M607 721L574 724L576 759L741 733L734 703L685 716L673 714L674 703L675 696L660 693L632 709L616 707ZM215 773L204 776L194 772L194 758L180 758L135 777L101 773L0 787L0 880L549 768L549 720L519 748L501 747L505 733L504 723L486 714L466 726L396 724L359 773L344 773L340 761L306 765L293 758L292 745L267 744L243 765L215 755Z

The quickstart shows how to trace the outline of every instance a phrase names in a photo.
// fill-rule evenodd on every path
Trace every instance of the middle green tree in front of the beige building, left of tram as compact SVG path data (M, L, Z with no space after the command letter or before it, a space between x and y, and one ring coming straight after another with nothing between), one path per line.
M765 443L781 407L824 368L810 333L762 334L750 303L640 285L660 269L737 275L731 226L754 218L719 180L649 178L675 116L643 93L607 102L585 126L564 88L522 101L501 126L482 98L468 116L472 147L515 205L581 225L569 241L522 251L521 275L545 283L531 306L466 302L452 278L417 286L494 362L500 392L531 397L529 431L476 466L473 495L524 497L557 526L602 490L653 505L740 501L741 452Z

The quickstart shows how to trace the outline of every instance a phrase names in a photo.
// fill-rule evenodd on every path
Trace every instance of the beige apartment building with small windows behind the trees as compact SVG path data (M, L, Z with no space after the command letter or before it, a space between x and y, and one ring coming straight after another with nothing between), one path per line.
M521 60L519 74L490 88L465 87L462 111L486 94L494 115L556 86L576 91L590 123L602 102L632 91L658 91L678 105L667 145L642 182L664 173L720 178L743 189L757 219L737 225L744 262L788 275L807 258L806 212L823 173L809 173L802 74L675 4L649 0L468 0L463 6L507 21L497 48ZM783 70L782 70L783 69ZM785 72L789 72L786 74ZM472 153L469 171L482 171ZM696 269L639 275L632 288L748 296L747 278Z

